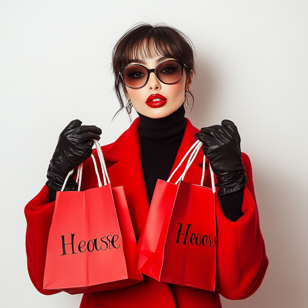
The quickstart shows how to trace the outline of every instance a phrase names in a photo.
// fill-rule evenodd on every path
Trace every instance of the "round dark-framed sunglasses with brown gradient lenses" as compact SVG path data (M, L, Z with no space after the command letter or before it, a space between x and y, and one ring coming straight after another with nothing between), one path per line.
M160 62L150 70L141 64L130 64L120 69L119 74L127 87L138 89L146 85L152 72L162 83L177 83L183 76L184 66L188 68L185 63L176 60Z

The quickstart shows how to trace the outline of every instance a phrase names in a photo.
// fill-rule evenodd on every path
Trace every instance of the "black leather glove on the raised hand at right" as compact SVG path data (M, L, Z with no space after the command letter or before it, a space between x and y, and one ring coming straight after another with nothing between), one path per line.
M243 188L247 178L242 163L241 137L235 124L223 120L221 125L201 128L195 138L203 143L203 153L217 176L216 186L221 188L220 196Z

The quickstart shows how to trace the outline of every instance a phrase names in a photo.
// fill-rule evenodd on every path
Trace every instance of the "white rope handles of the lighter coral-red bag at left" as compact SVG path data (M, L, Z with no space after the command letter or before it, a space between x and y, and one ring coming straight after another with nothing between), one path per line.
M101 168L102 168L104 185L110 184L110 180L109 180L109 176L108 176L108 173L107 173L107 168L106 168L106 164L105 164L105 160L104 160L102 149L101 149L100 144L99 144L99 142L97 140L93 140L93 141L94 141L95 147L97 149L97 155L99 157L99 162L100 162L100 165L101 165ZM103 184L102 184L102 182L100 180L99 172L98 172L98 169L97 169L96 160L95 160L95 157L94 157L93 154L91 154L91 158L93 160L93 164L94 164L94 168L95 168L95 173L96 173L96 176L97 176L98 186L102 187ZM77 167L76 183L78 184L78 191L80 191L80 187L81 187L82 168L83 168L83 164L80 164ZM66 176L66 178L64 180L63 186L61 188L61 191L64 190L64 188L66 186L66 183L67 183L67 180L72 175L73 172L74 172L74 169L71 170L70 172L68 172L68 174L67 174L67 176Z

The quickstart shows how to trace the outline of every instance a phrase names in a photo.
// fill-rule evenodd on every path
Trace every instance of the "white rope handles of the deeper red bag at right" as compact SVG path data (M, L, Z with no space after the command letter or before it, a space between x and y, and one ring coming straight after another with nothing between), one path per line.
M197 154L199 152L199 150L202 147L202 142L197 140L191 147L190 149L186 152L186 154L184 155L184 157L182 158L182 160L180 161L180 163L177 165L177 167L174 169L174 171L172 172L171 176L168 178L167 182L169 182L172 178L172 176L175 174L175 172L180 168L181 164L184 162L185 158L188 156L188 154L191 152L186 167L184 169L184 172L181 174L181 176L179 177L179 179L176 181L175 184L178 184L180 182L180 180L184 180L184 176L186 175L186 172L188 170L188 168L191 166L191 164L193 163L193 161L195 160L195 158L197 157ZM211 175L211 183L212 183L212 191L213 193L216 192L216 188L215 188L215 181L214 181L214 172L211 168L211 165L209 164L209 169L210 169L210 175ZM203 182L204 182L204 176L205 176L205 155L203 156L203 164L202 164L202 178L201 178L201 186L203 186Z

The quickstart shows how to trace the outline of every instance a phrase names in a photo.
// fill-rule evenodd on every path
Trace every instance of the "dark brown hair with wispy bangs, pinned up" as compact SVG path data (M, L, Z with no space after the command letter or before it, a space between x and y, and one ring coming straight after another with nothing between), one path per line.
M120 69L129 64L132 59L142 59L156 55L166 56L184 62L186 76L192 69L195 73L195 52L192 41L181 31L166 25L151 25L138 23L117 41L112 51L112 69L115 77L115 94L124 108L124 83L119 75ZM192 93L189 94L193 97Z

